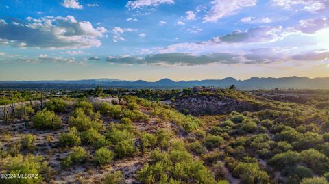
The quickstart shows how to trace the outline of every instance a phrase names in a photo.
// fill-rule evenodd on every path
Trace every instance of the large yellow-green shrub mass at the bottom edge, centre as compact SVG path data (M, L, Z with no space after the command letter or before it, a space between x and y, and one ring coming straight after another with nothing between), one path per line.
M142 183L216 183L212 172L202 161L193 160L182 142L173 142L171 146L169 155L154 150L151 164L139 170L136 178Z

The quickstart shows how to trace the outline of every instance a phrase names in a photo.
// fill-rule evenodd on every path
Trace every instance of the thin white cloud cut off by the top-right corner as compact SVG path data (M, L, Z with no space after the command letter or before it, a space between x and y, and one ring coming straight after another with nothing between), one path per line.
M329 2L327 0L271 0L271 3L287 10L294 9L308 12L329 10Z

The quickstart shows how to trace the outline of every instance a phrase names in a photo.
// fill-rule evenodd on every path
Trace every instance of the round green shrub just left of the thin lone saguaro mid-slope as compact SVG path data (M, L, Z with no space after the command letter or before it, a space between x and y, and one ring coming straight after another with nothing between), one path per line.
M119 142L114 148L114 153L119 158L132 157L134 156L135 151L136 148L132 140L123 140Z

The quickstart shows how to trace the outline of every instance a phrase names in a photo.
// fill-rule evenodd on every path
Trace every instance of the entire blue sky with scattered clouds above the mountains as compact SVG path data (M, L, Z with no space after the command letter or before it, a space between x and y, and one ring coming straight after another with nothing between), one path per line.
M329 77L329 0L0 0L0 81Z

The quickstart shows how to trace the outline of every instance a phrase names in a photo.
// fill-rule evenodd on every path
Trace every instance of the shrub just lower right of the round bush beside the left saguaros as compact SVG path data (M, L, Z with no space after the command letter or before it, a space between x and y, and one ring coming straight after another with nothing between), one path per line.
M77 128L71 127L68 133L62 133L59 137L59 142L62 146L77 146L81 144Z

